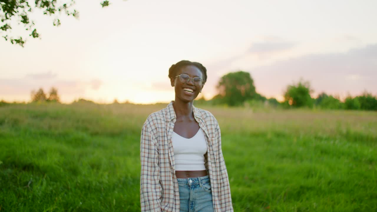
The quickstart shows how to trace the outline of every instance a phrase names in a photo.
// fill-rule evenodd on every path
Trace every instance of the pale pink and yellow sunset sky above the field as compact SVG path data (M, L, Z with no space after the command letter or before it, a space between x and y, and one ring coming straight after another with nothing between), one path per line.
M77 0L80 17L62 15L59 27L35 10L41 39L29 37L25 48L0 39L0 100L30 101L33 89L54 86L64 103L169 102L168 70L180 60L207 68L207 99L238 70L278 100L300 78L313 97L377 95L375 0L100 2Z

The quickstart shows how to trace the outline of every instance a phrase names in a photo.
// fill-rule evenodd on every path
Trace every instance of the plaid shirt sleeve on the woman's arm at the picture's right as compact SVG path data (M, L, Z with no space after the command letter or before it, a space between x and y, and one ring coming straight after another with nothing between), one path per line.
M219 166L220 166L220 204L222 211L233 211L232 198L230 195L230 184L228 178L227 167L225 166L224 156L221 149L221 131L219 124L216 127L219 142Z

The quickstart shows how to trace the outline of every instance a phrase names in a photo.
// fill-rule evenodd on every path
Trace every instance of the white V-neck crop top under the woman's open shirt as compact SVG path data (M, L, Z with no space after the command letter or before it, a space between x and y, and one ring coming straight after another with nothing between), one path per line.
M192 138L184 138L173 132L172 143L176 171L205 170L204 154L207 152L207 144L201 128Z

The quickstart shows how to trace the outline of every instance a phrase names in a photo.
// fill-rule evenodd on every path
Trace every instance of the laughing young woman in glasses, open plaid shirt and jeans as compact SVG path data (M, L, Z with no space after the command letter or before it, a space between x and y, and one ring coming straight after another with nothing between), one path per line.
M150 114L141 131L141 211L233 211L219 124L193 106L207 70L182 60L169 78L175 100Z

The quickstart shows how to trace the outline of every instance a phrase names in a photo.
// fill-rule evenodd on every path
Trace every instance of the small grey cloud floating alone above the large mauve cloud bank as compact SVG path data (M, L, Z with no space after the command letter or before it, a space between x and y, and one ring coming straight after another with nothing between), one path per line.
M285 51L293 48L295 43L281 41L265 41L253 43L248 49L248 53L266 54Z

